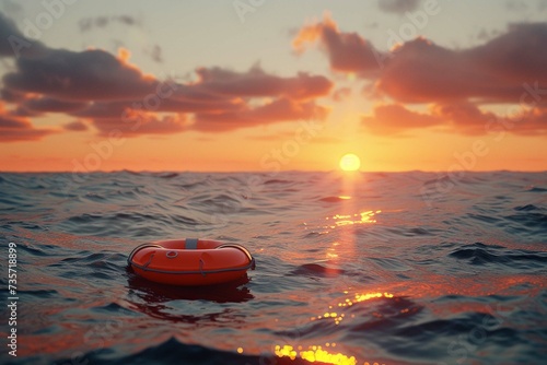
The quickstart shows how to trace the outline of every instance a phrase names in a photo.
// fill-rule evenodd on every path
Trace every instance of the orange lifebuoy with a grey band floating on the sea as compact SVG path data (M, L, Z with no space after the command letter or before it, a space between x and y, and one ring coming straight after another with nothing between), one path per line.
M255 269L255 259L245 247L196 238L140 245L127 262L142 278L173 285L226 283Z

